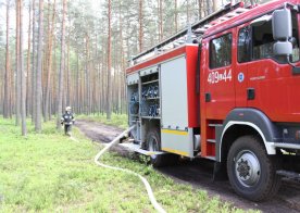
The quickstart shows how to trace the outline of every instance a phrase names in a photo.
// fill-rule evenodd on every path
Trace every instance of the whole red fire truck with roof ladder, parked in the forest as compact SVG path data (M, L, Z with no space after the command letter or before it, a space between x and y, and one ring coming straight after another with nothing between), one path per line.
M228 4L130 60L132 143L154 166L215 162L235 191L271 198L300 176L300 0Z

